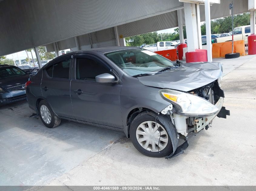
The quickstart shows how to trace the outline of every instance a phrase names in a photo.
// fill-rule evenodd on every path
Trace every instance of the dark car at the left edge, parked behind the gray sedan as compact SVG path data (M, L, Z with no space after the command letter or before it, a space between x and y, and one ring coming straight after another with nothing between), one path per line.
M29 74L13 65L0 65L0 105L26 99Z

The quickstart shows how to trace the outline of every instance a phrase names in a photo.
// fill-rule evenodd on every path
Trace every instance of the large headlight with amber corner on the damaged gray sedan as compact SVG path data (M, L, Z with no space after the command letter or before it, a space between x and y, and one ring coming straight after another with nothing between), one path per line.
M162 89L161 97L171 102L179 115L183 116L210 116L218 112L218 107L207 100L181 91Z

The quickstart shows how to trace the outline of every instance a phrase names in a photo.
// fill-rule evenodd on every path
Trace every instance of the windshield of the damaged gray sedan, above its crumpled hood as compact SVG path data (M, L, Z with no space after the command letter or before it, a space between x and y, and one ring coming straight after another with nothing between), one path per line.
M163 68L176 66L171 60L142 48L118 50L105 56L130 76L155 74Z

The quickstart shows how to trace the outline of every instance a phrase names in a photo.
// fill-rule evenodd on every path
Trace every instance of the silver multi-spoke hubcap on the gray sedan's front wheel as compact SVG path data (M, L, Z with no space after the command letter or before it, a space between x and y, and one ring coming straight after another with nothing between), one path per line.
M152 152L158 152L158 149L161 151L168 144L168 134L165 131L165 128L159 123L156 125L154 121L145 121L141 123L136 130L136 138L144 149Z

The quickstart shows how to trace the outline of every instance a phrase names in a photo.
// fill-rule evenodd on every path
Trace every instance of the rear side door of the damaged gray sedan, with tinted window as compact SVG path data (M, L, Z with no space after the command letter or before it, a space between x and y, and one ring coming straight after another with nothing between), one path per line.
M71 56L63 57L44 69L41 90L43 97L58 116L74 118L70 98Z

